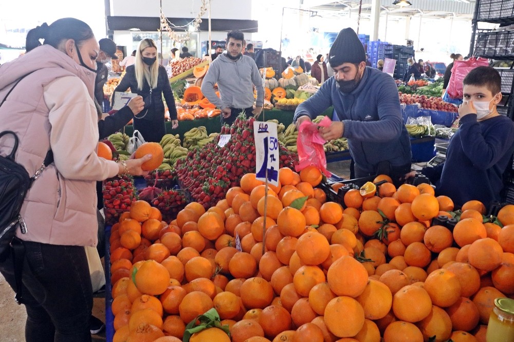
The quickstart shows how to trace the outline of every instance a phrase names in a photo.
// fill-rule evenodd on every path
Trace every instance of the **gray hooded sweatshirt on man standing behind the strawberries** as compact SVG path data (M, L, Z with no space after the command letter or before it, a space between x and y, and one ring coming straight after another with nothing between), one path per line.
M216 96L214 84L218 84L219 95ZM257 89L257 99L253 97L253 86ZM264 89L261 74L255 61L246 55L232 61L223 53L212 61L201 83L201 92L219 109L225 107L249 108L256 101L261 107L264 100Z

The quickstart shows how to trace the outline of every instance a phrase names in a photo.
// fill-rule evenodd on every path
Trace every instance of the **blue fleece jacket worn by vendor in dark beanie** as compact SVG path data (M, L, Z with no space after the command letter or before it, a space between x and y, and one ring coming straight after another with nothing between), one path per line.
M398 88L387 73L366 67L362 80L351 93L336 87L334 77L295 111L295 121L301 116L316 118L334 106L344 123L343 137L348 139L350 154L361 169L375 172L376 165L388 160L392 166L411 163L411 142L403 125Z

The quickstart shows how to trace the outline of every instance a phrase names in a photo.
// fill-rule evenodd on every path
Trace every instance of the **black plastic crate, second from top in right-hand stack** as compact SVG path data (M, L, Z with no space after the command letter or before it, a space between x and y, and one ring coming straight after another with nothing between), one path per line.
M479 30L474 54L489 59L514 58L514 31Z

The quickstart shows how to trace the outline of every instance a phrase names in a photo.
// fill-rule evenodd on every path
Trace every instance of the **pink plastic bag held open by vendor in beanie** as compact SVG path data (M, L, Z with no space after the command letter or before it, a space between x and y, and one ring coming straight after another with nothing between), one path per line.
M309 165L315 165L320 168L325 176L332 176L326 169L326 156L325 150L323 149L325 139L321 138L318 132L318 126L328 127L331 123L332 121L328 117L324 117L319 124L309 121L302 122L296 142L298 158L300 159L300 162L296 166L297 172L300 172Z

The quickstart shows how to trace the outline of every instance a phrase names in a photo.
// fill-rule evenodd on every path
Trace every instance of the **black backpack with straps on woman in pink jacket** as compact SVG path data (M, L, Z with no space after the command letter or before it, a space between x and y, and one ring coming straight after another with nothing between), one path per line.
M2 103L0 103L0 107L4 104L14 87L26 76L14 84ZM30 177L25 167L15 162L19 143L18 137L13 131L5 130L0 132L0 139L6 135L14 137L14 146L8 156L0 156L0 262L5 261L9 253L12 253L16 281L16 289L14 289L16 292L15 298L18 303L21 303L25 248L22 240L16 238L16 229L20 226L22 233L26 233L27 227L20 216L20 210L32 182L41 175L46 166L53 162L53 153L51 149L47 152L41 167L34 176Z

